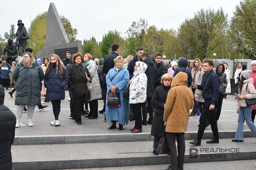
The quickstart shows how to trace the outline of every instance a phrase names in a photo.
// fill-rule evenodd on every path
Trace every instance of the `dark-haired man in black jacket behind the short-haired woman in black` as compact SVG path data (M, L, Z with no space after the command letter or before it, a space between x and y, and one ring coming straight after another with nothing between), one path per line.
M155 89L156 89L157 86L161 86L161 78L162 78L162 75L167 73L167 67L162 62L161 54L156 54L155 60L156 60L155 65L157 66L157 76L155 79Z

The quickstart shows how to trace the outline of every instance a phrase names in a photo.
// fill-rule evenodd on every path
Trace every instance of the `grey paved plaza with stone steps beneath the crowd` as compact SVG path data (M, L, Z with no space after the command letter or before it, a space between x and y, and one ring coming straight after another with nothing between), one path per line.
M4 104L15 114L15 98L5 90ZM44 103L48 108L43 111L35 109L32 121L34 126L28 127L27 114L23 113L21 126L16 128L16 138L12 146L13 168L15 169L76 169L116 167L114 169L166 169L170 162L167 154L153 155L153 137L150 135L151 125L143 126L143 133L132 134L130 128L135 121L124 126L123 131L108 130L110 123L103 122L104 114L99 118L89 120L82 116L82 125L77 125L69 119L68 91L65 101L61 102L59 120L60 126L51 126L54 120L51 102ZM99 110L103 108L103 101L99 100ZM243 143L231 142L237 127L237 101L228 95L223 100L218 129L220 143L206 144L212 138L211 126L207 127L201 146L191 146L188 142L197 135L199 116L189 118L188 131L185 133L185 164L184 169L253 169L256 157L255 138L244 125L245 139ZM191 148L198 150L197 158L190 158ZM214 149L215 158L206 158L205 149ZM238 152L219 152L218 149L238 148ZM202 150L203 149L203 150ZM225 154L225 158L220 158ZM217 155L217 156L216 156ZM204 158L202 158L202 156ZM248 159L245 162L238 161ZM218 161L218 162L217 162ZM162 164L162 165L161 165ZM244 166L246 164L246 166ZM40 165L40 166L38 166ZM209 168L210 167L210 168Z

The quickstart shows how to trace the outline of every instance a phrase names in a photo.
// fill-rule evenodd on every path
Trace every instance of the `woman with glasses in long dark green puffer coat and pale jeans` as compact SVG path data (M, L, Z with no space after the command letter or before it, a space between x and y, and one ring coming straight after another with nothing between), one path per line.
M20 64L14 69L13 80L16 81L15 105L16 127L20 127L20 118L23 109L28 106L28 126L33 126L31 121L36 105L41 105L41 81L44 71L39 66L30 52L23 54Z

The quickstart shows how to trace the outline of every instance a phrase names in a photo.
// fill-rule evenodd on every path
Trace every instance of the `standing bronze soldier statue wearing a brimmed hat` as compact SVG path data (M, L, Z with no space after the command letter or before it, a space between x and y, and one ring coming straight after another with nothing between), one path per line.
M28 31L24 27L22 20L18 20L18 30L16 33L16 45L18 46L19 56L23 56L25 46L27 45L27 39L29 39Z

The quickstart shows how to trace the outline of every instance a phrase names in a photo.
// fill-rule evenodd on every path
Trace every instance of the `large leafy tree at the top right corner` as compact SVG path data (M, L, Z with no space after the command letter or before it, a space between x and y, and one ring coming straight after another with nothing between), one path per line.
M244 0L236 6L230 22L228 36L233 50L252 58L256 51L256 1Z

